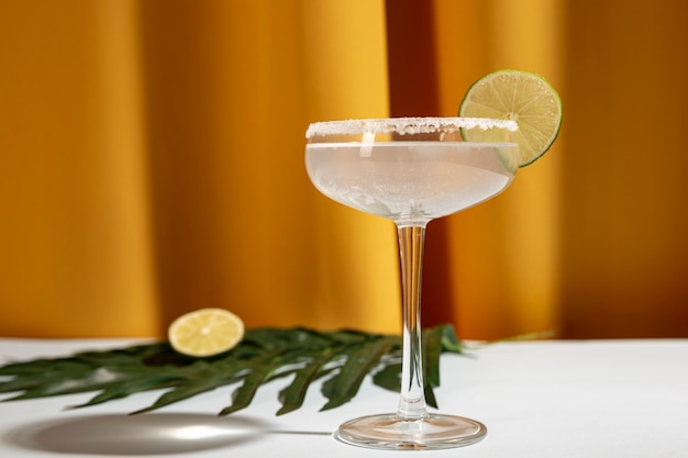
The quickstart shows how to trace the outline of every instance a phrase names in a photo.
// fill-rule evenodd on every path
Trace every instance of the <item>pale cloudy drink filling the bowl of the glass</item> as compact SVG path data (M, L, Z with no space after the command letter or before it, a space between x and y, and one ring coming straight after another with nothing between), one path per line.
M417 225L480 203L504 190L511 143L351 142L307 145L313 185L359 211Z

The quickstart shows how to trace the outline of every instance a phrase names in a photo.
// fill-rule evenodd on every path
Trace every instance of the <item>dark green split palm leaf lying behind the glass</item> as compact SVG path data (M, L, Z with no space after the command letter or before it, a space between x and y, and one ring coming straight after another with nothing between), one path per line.
M463 351L451 325L423 332L425 395L436 406L433 388L440 384L440 355ZM67 358L35 359L0 367L2 402L95 392L73 409L101 404L149 390L166 390L134 413L149 412L221 387L232 386L231 403L220 414L245 409L264 383L290 380L279 391L278 415L299 409L313 381L326 378L322 410L352 400L365 377L391 391L400 386L401 338L356 331L319 332L307 328L248 329L232 350L210 358L190 358L167 343L106 351L85 351ZM290 379L288 379L290 377Z

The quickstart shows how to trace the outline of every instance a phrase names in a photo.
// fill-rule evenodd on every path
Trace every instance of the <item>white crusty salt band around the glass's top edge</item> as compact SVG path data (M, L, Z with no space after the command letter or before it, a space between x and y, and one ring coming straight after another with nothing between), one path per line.
M426 134L440 130L451 133L460 129L506 129L518 131L513 120L489 118L387 118L368 120L322 121L312 123L306 131L306 138L323 135L355 135L363 133Z

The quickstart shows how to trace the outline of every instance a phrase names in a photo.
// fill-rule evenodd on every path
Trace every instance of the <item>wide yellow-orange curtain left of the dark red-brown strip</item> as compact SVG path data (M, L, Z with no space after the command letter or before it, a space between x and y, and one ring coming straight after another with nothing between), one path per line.
M398 331L393 231L303 167L310 122L388 115L384 14L3 2L0 334L159 335L203 306Z

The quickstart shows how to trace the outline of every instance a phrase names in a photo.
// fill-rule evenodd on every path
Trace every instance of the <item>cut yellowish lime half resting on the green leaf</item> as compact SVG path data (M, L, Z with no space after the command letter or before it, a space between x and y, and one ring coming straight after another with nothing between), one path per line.
M213 356L241 342L244 322L224 309L201 309L175 320L167 329L167 337L173 348L184 355Z

